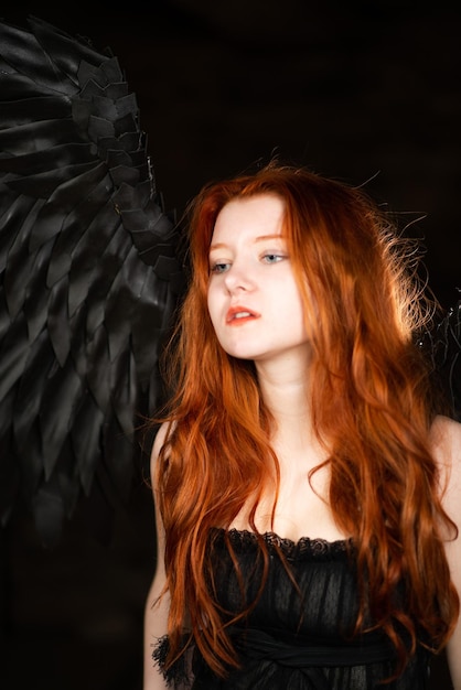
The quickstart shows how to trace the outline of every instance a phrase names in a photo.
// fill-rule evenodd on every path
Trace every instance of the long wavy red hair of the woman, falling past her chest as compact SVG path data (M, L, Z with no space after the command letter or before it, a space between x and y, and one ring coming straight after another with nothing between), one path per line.
M439 498L429 450L435 408L412 337L425 316L415 261L363 191L278 164L207 185L192 206L191 283L164 359L174 395L162 420L174 423L156 477L171 599L169 662L189 627L217 673L235 664L207 586L210 530L228 527L249 500L255 509L277 470L254 366L222 349L207 311L208 247L219 211L233 198L268 193L285 202L283 234L304 302L313 423L330 452L330 506L353 538L358 580L366 582L356 629L368 602L403 666L421 629L440 649L459 613L441 532L454 526ZM397 583L405 585L405 608L395 601Z

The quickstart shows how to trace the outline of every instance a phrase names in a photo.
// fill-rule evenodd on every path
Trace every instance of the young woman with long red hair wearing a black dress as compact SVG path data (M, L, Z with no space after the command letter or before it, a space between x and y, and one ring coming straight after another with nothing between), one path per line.
M414 252L363 192L271 164L202 191L190 256L144 690L420 690L446 646L461 690L461 424Z

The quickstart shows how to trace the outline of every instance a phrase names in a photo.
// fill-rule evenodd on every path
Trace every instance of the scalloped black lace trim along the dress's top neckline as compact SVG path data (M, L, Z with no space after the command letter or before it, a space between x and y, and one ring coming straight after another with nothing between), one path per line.
M258 535L247 529L225 529L216 527L214 529L214 540L216 542L230 541L233 548L237 550L254 550L262 539L270 550L279 550L288 559L312 558L330 560L339 556L349 554L353 548L352 539L328 539L301 537L297 541L288 537L280 537L276 532L264 532Z

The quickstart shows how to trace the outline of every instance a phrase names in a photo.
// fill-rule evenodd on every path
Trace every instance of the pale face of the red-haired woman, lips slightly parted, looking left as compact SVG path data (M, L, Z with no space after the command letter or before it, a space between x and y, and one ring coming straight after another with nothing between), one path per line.
M208 311L222 347L256 363L309 352L301 295L282 237L283 201L238 198L216 218Z

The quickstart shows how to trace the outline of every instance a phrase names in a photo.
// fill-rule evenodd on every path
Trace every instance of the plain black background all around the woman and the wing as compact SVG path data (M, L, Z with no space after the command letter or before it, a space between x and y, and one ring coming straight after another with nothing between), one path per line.
M427 248L448 306L461 288L461 11L442 3L310 0L3 2L109 45L137 93L168 208L274 153L366 184ZM84 500L84 499L83 499ZM154 567L141 473L100 543L77 510L44 549L29 517L0 532L4 690L140 690ZM437 664L433 688L449 688Z

